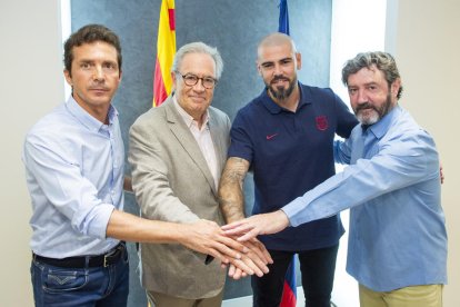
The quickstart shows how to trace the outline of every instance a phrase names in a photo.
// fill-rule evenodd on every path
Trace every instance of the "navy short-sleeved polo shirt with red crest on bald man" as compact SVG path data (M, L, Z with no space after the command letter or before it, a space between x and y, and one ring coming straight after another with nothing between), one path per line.
M229 157L250 162L253 215L278 210L333 176L334 135L347 138L358 123L331 89L300 82L299 88L296 112L279 107L264 89L232 123ZM337 215L259 239L269 249L300 251L336 245L343 231Z

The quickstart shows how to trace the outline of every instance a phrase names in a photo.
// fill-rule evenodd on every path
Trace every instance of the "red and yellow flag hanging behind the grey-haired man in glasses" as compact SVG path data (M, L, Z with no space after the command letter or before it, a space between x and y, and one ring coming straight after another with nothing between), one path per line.
M157 62L153 76L153 107L171 93L171 66L176 53L174 0L162 0L158 22Z

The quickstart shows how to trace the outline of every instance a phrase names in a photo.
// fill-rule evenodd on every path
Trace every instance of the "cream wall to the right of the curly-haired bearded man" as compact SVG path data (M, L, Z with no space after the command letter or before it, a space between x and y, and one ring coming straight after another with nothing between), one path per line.
M456 307L460 306L460 167L456 151L460 148L460 1L391 2L399 6L390 17L396 27L389 29L387 46L397 58L406 88L401 105L434 137L447 177L442 186L449 237L444 306Z

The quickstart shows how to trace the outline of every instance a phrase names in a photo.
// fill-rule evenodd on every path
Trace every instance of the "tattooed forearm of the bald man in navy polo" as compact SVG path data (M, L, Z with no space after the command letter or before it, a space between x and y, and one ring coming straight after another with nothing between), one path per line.
M244 218L243 181L248 174L249 161L229 158L219 185L219 202L227 222Z

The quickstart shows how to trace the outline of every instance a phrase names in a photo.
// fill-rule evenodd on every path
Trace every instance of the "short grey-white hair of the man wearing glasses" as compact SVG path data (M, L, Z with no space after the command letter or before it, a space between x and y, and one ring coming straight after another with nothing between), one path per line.
M190 42L182 46L178 52L176 52L174 60L172 61L172 72L179 71L179 68L182 63L183 58L186 55L189 53L204 53L211 56L216 63L216 79L219 80L220 76L222 76L223 70L223 61L222 57L220 56L219 51L216 47L210 47L201 41Z

